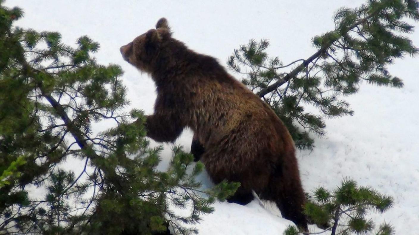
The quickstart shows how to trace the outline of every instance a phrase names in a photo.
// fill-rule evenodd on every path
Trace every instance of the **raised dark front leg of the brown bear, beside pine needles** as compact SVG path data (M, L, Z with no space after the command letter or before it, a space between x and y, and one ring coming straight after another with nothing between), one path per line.
M146 118L147 136L157 142L173 142L184 129L179 118L166 115L147 115Z

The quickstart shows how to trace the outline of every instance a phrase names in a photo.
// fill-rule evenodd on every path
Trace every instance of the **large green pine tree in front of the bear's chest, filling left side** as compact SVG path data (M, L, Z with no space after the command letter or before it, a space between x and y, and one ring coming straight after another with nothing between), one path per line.
M0 233L196 233L190 225L238 184L200 190L203 165L180 147L157 171L162 148L148 147L140 110L124 112L123 72L95 61L99 44L82 36L74 48L58 32L15 27L22 10L2 3ZM93 134L104 120L114 128ZM66 159L82 160L83 171L63 169ZM34 198L31 188L46 194ZM176 213L186 207L189 215Z

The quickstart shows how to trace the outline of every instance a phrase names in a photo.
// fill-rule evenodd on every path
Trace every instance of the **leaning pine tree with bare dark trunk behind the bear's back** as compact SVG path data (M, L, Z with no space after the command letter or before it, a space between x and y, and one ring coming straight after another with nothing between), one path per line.
M313 37L318 51L307 59L284 65L278 57L269 58L269 41L262 39L236 49L228 66L272 107L298 148L312 148L309 133L324 135L325 118L353 115L342 97L356 93L362 82L403 87L387 66L418 53L406 37L414 26L405 21L419 20L418 5L416 0L368 0L359 8L341 8L335 29ZM305 111L310 105L320 115Z

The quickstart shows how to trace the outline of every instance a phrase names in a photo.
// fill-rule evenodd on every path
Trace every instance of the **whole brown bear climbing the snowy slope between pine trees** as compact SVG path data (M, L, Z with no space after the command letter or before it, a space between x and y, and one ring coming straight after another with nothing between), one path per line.
M294 142L269 105L216 59L172 38L165 18L120 51L129 64L150 74L157 87L155 111L145 123L148 137L174 141L185 127L191 128L205 149L201 161L212 181L241 183L230 202L246 204L254 191L308 230Z

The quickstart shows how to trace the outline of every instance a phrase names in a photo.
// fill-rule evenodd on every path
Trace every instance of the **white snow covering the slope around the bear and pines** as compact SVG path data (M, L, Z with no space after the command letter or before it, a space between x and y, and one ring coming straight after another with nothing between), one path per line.
M18 26L59 31L63 42L70 45L82 35L101 43L96 54L98 62L121 65L131 107L151 114L154 83L122 60L119 47L153 28L160 17L168 19L174 37L195 51L218 58L223 65L233 49L251 38L270 39L269 53L288 63L315 52L310 39L334 28L335 10L362 3L362 0L8 0L5 5L24 9L25 17L18 21ZM419 32L411 38L419 46ZM307 192L318 186L334 189L349 177L392 196L392 209L371 216L377 224L386 221L394 225L396 234L419 230L418 62L407 57L390 66L391 73L403 79L402 89L363 84L359 93L346 97L354 116L326 120L327 134L316 138L314 150L297 152ZM106 125L96 128L101 130ZM189 150L190 141L191 132L186 130L176 144ZM164 146L160 169L166 168L172 156L171 146ZM76 164L80 169L83 167L83 163L71 163L73 168ZM204 184L210 184L205 177ZM215 212L203 216L197 224L199 234L281 234L290 224L274 209L265 209L258 200L246 206L216 202L214 207Z

